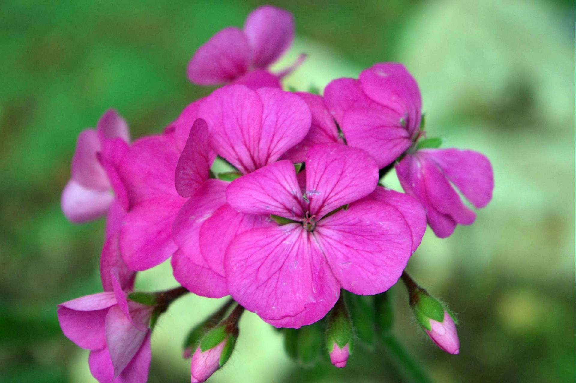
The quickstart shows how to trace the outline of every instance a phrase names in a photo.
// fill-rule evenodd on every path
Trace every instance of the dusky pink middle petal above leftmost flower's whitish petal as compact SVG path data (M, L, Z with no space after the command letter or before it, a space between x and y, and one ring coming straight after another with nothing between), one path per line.
M78 135L76 151L72 157L72 179L86 188L106 190L110 188L106 172L96 160L102 149L98 133L86 129Z

